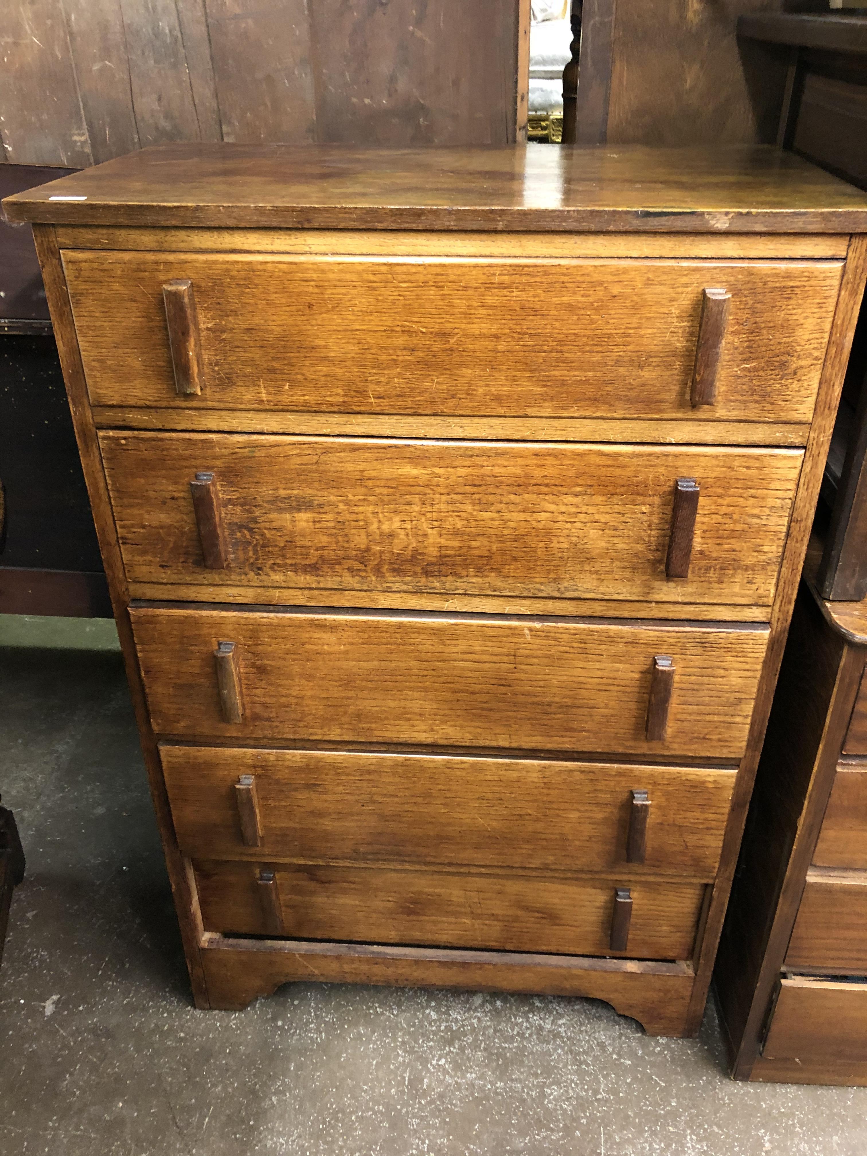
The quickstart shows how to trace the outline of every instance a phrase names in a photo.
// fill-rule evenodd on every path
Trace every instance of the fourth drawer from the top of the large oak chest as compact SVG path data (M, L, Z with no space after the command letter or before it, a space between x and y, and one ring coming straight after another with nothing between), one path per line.
M717 873L735 778L733 771L343 751L163 746L161 756L178 843L194 859L573 872L622 869L631 853L631 872L707 882ZM252 781L239 792L242 776ZM646 802L633 792L646 792ZM242 825L246 812L258 838Z

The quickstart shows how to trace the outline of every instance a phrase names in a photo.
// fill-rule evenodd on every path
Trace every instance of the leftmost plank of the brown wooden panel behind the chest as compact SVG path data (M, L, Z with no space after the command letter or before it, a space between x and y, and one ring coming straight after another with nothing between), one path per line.
M94 163L64 12L57 0L3 5L0 135L8 161Z

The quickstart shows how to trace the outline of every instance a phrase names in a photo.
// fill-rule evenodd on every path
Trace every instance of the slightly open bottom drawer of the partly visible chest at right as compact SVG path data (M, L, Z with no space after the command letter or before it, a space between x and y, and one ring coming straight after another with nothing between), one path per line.
M762 1058L805 1067L867 1061L867 983L784 979Z

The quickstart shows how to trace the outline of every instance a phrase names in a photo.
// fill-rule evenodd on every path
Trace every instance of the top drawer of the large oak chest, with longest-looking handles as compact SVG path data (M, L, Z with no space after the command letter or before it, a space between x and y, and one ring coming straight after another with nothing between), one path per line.
M751 422L812 420L843 268L83 251L64 265L98 406ZM198 394L176 392L163 287L178 280ZM694 408L707 288L731 302L714 401Z

